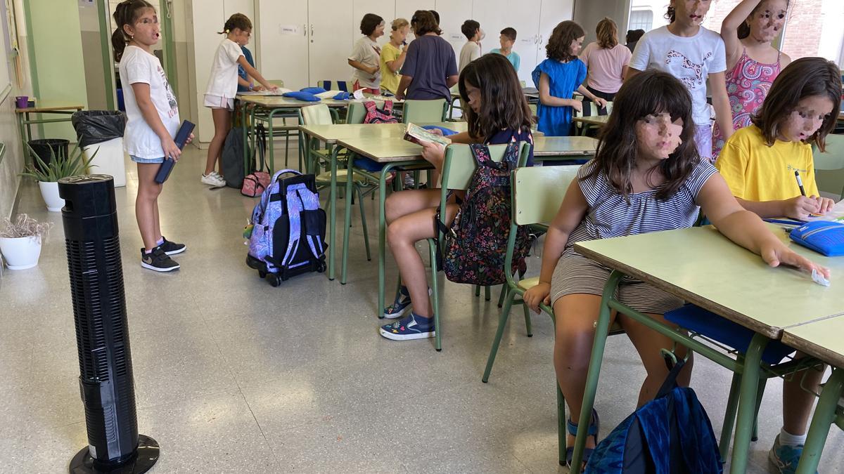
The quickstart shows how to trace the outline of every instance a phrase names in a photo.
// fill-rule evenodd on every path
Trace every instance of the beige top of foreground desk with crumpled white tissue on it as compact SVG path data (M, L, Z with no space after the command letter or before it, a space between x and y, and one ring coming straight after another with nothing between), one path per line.
M821 256L770 227L789 248L829 267L832 286L792 268L768 267L711 226L592 240L575 249L773 339L783 329L844 313L844 258Z

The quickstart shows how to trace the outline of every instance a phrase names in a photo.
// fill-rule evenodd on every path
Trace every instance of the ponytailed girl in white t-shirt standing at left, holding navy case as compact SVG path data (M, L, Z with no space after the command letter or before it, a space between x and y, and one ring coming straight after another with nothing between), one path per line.
M113 16L117 29L111 35L111 46L116 61L120 62L128 118L123 143L138 164L135 216L143 239L141 267L170 272L179 268L170 256L185 251L186 247L161 235L158 208L161 185L155 182L155 175L165 158L178 160L181 155L173 142L179 129L179 107L161 62L152 53L152 46L160 37L155 8L144 0L132 0L117 5ZM192 138L193 135L188 142Z

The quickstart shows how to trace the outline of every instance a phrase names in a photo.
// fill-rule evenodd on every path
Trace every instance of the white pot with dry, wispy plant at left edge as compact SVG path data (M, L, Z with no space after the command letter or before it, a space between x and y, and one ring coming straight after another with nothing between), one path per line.
M14 222L6 218L0 226L0 253L11 270L24 270L38 265L41 242L50 233L52 224L42 223L26 214Z

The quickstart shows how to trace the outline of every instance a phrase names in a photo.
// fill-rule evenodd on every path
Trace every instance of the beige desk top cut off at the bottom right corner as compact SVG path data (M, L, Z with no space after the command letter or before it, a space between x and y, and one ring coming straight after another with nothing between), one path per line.
M782 342L838 369L844 369L844 315L790 327Z

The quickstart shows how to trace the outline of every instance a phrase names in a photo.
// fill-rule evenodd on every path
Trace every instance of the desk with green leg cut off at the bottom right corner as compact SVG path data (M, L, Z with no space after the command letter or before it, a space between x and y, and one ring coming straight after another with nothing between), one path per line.
M833 423L838 428L844 429L844 408L838 407L841 396L844 396L844 337L842 336L844 336L844 314L803 326L791 327L782 333L782 342L800 352L819 358L833 368L830 379L820 391L820 400L812 415L809 435L806 437L806 444L803 444L803 455L800 456L798 474L814 473L818 469L826 436L830 433L830 426Z

